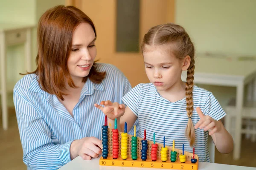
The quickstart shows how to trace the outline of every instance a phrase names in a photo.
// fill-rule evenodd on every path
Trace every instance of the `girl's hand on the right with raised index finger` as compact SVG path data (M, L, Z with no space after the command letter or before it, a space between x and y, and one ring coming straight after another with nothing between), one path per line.
M209 135L213 135L221 130L221 122L212 119L208 115L205 116L199 107L196 108L196 112L198 113L200 120L195 125L195 129L199 127L200 129L204 129L204 131L209 130Z

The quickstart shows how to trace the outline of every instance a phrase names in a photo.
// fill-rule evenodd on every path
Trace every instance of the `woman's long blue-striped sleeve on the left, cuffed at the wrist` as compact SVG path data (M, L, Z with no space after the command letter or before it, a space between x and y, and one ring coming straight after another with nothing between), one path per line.
M58 169L71 161L73 141L54 144L47 123L29 101L15 90L13 99L24 163L31 169Z

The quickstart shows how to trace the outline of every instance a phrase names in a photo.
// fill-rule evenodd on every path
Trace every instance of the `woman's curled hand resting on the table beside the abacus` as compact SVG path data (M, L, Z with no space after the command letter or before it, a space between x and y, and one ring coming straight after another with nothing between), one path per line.
M77 156L81 156L84 160L98 158L102 153L101 146L102 141L95 137L85 137L75 140L70 145L70 158L71 160Z

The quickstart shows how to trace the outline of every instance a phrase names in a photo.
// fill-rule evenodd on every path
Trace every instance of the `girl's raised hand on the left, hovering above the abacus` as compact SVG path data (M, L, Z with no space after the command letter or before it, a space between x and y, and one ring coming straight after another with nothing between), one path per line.
M102 101L100 102L101 105L104 105L104 107L98 105L98 104L94 104L94 106L98 109L100 109L105 115L108 116L109 119L116 119L118 117L121 117L124 115L125 113L125 105L121 104L119 105L119 103L114 102L112 103L111 101Z

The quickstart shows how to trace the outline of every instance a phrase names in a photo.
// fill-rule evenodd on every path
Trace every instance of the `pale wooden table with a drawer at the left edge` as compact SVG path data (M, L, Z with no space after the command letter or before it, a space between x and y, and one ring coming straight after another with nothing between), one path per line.
M32 71L31 65L31 28L33 26L17 23L0 23L0 79L3 129L8 128L7 91L6 88L6 47L25 44L26 70Z

